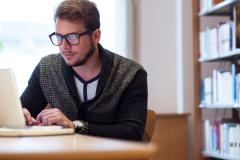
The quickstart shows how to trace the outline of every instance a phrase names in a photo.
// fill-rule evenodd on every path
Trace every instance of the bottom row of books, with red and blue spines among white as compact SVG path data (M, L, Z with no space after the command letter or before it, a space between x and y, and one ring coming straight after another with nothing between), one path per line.
M240 119L204 120L205 151L240 158Z

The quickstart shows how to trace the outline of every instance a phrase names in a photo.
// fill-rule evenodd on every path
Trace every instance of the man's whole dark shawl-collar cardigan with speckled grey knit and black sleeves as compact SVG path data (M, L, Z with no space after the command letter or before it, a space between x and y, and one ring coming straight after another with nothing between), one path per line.
M86 121L89 135L141 140L147 112L147 74L136 62L101 46L99 50L103 66L93 100L83 103L76 98L70 67L59 54L53 54L42 58L35 68L21 96L22 104L36 116L50 103L70 120Z

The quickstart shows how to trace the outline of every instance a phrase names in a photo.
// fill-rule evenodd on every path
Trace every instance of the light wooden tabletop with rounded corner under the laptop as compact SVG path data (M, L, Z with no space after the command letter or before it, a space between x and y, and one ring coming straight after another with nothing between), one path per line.
M156 152L153 144L85 135L0 137L0 159L136 160Z

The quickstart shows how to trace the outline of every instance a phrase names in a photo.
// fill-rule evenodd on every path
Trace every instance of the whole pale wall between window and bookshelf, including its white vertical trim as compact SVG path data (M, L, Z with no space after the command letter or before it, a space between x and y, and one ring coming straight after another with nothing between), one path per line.
M190 0L141 0L139 61L148 72L149 106L160 113L193 106Z

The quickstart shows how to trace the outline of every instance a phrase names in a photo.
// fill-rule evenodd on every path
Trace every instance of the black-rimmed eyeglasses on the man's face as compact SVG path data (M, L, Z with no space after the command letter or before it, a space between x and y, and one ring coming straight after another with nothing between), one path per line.
M78 45L79 38L89 33L90 31L85 31L82 33L70 33L66 35L61 35L56 32L53 32L52 34L49 35L49 38L52 44L54 44L55 46L60 46L62 44L63 39L65 39L69 45Z

